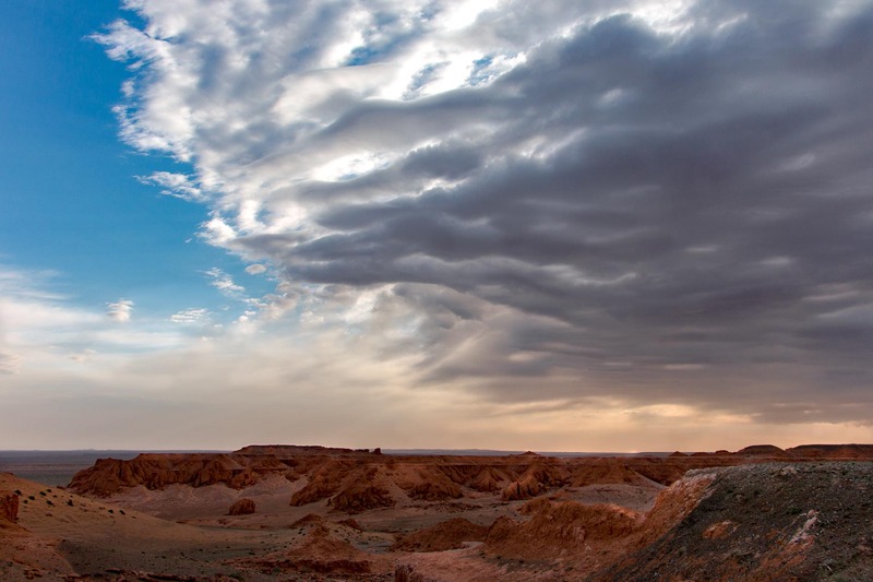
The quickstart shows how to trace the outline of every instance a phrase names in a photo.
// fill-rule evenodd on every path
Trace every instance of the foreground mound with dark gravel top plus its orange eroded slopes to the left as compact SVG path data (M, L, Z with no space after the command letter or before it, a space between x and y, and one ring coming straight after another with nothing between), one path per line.
M647 513L537 499L528 519L497 520L478 554L452 556L453 574L418 555L398 579L873 580L871 491L870 462L767 463L691 472Z

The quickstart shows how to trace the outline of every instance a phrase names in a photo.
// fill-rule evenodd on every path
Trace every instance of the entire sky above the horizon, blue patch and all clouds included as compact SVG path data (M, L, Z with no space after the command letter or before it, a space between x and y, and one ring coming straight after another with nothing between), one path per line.
M873 442L873 2L4 0L0 449Z

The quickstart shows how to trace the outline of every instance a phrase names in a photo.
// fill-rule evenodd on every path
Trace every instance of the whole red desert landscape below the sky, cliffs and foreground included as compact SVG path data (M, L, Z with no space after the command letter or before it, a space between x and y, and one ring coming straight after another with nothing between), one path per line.
M250 446L0 474L2 580L870 580L873 446Z

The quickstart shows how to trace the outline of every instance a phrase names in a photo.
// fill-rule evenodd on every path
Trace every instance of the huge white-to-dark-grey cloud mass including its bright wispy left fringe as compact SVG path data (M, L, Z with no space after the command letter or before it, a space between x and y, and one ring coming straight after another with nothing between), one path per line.
M192 164L151 180L275 266L261 313L493 402L869 418L873 8L464 5L131 1L98 39L122 138Z

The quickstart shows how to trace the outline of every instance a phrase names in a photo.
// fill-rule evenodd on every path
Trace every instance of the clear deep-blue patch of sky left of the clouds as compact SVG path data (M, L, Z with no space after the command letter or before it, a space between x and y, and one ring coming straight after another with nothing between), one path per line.
M204 293L203 273L241 269L193 236L204 209L136 179L180 164L118 138L111 107L127 69L89 37L135 13L107 1L11 0L2 11L2 262L55 272L52 286L83 306L135 295L137 309L167 317L226 302Z

